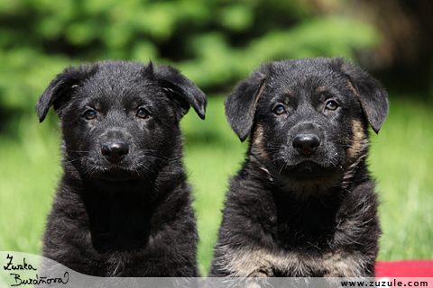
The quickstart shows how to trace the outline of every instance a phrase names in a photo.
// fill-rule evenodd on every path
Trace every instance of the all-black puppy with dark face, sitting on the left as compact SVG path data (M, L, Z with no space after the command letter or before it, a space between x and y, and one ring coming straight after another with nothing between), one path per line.
M179 121L206 95L170 66L70 67L36 105L63 133L63 169L43 256L86 275L197 276L198 234Z

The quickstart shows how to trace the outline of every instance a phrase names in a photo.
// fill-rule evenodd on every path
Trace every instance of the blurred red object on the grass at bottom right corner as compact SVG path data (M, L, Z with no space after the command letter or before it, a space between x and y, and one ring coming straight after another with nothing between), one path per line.
M377 261L376 277L433 277L433 260Z

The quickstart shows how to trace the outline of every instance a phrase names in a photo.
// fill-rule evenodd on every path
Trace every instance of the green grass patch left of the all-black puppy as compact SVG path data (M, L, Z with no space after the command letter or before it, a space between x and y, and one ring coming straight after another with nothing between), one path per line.
M36 116L20 123L21 140L0 140L0 250L40 254L41 233L60 175L59 139L38 126Z

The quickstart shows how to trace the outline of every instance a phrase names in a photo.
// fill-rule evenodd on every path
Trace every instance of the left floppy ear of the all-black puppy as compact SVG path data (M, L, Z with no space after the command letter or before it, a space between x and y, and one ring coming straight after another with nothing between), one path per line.
M63 70L47 89L41 94L36 103L36 112L38 112L39 121L43 121L47 116L51 106L54 111L60 115L61 108L69 101L72 91L76 85L80 85L88 77L97 72L98 65L89 67L88 65L80 67L69 67Z

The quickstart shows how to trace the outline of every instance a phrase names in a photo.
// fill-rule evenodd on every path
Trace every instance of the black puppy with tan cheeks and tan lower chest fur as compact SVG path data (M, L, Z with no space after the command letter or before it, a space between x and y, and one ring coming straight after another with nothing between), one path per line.
M212 276L373 276L378 238L365 164L387 94L342 58L264 64L226 99L244 166L231 181Z

